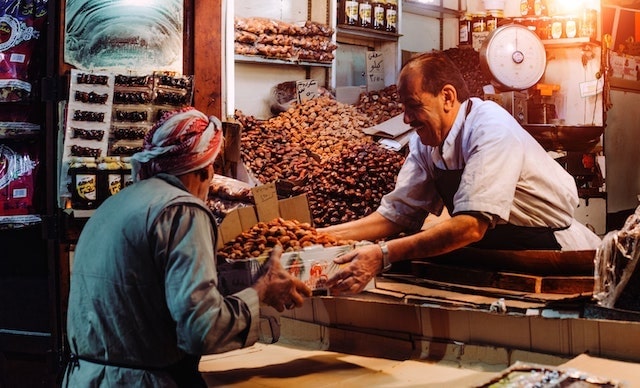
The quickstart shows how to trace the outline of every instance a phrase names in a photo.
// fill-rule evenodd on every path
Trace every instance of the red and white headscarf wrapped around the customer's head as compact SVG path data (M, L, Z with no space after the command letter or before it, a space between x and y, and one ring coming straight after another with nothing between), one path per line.
M131 157L135 180L164 172L182 175L213 163L222 146L222 123L193 107L165 113L147 132L144 150Z

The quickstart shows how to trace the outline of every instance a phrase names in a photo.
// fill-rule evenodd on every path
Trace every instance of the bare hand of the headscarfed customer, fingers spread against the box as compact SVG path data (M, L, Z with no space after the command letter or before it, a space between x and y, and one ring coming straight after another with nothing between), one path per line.
M297 279L284 270L280 264L282 246L276 245L269 256L269 266L253 287L258 291L260 302L265 303L278 312L285 308L292 309L302 306L305 297L311 296L311 289L300 279Z

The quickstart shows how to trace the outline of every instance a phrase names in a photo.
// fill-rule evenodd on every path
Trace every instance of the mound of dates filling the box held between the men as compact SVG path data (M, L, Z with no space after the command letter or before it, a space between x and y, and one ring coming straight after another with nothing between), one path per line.
M221 259L233 261L268 255L278 244L282 245L284 252L295 252L311 245L331 247L352 243L353 241L339 240L329 234L320 233L308 223L276 218L269 222L257 223L225 243L217 254Z

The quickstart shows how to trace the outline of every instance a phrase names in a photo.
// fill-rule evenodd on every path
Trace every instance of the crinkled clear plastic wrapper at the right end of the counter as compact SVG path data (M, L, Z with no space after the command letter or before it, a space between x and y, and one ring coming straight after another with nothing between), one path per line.
M627 218L622 229L607 233L596 250L594 298L600 306L621 307L621 297L640 297L640 282L634 276L640 257L639 240L640 207Z

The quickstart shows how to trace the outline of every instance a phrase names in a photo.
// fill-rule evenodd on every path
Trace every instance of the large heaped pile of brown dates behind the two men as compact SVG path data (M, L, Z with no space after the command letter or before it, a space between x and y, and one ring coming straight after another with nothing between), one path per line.
M367 100L367 109L388 110L388 98L377 95ZM375 101L385 105L376 110ZM262 184L285 181L292 195L307 194L316 227L375 211L405 158L362 132L378 122L326 96L293 104L269 120L239 111L236 118L243 125L241 155L249 172Z

